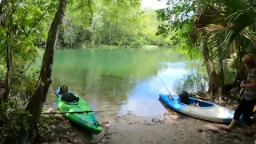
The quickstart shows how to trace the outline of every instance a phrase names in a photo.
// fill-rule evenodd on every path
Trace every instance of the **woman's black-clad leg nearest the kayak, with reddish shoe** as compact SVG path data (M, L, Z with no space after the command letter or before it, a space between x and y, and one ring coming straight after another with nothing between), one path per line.
M243 113L243 108L244 105L246 105L246 100L244 98L242 98L238 108L234 111L234 117L232 119L232 121L230 122L230 124L228 126L221 126L222 130L231 130L234 127L235 122L238 121L238 119L241 117L242 113Z

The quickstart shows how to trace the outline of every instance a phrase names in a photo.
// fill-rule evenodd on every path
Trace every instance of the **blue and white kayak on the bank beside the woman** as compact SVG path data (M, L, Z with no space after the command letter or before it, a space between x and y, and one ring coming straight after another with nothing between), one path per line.
M169 95L159 94L159 99L169 106L171 109L176 110L182 114L189 115L194 118L210 122L220 122L229 124L234 117L234 110L227 109L226 107L216 105L212 102L206 102L198 98L190 97L190 105L178 102L178 96L172 96L174 100L169 98ZM192 104L198 103L198 106ZM242 116L237 122L238 125L244 125Z

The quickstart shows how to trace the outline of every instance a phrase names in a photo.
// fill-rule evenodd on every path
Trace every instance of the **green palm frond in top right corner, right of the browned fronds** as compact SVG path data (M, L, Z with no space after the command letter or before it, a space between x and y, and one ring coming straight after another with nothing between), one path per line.
M245 0L218 0L224 6L222 18L227 23L225 39L219 45L222 49L220 61L229 54L231 43L243 29L256 22L256 12ZM245 34L244 34L245 35ZM247 34L248 36L248 34Z

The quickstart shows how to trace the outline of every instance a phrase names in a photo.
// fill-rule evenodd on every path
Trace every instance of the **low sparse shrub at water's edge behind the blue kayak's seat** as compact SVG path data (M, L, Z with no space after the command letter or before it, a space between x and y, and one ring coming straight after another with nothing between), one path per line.
M192 72L190 74L185 74L183 78L178 79L178 82L174 84L174 90L180 94L183 90L189 93L204 93L208 85L208 78L206 75L195 74Z

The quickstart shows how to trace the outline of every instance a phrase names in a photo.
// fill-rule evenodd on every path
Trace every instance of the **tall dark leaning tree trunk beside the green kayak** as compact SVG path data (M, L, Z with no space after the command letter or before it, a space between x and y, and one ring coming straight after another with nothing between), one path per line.
M46 42L45 54L42 58L42 68L38 78L38 83L35 86L34 94L30 98L30 102L26 106L26 110L32 115L32 117L28 118L26 121L28 122L30 129L21 131L21 136L19 138L22 139L18 139L17 141L14 138L8 138L5 143L22 143L27 141L38 123L38 119L42 113L42 106L46 101L46 95L51 84L50 78L54 62L54 47L58 38L58 30L62 25L66 11L66 3L67 0L60 0L58 10L54 16L54 21L51 23Z

